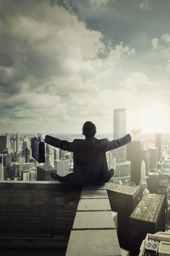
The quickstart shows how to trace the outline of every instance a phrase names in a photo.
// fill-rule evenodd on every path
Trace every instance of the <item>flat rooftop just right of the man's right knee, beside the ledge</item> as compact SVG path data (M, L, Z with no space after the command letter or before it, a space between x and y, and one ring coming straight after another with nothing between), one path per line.
M106 189L115 191L118 193L126 194L126 195L135 195L136 192L139 190L138 187L124 186L124 185L114 184L111 182L106 183Z

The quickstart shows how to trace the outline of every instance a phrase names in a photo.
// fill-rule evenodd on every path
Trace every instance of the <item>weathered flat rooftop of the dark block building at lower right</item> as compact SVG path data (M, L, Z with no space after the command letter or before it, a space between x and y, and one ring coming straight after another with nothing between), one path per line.
M147 194L130 215L130 218L136 218L142 221L156 222L156 219L164 201L164 195Z

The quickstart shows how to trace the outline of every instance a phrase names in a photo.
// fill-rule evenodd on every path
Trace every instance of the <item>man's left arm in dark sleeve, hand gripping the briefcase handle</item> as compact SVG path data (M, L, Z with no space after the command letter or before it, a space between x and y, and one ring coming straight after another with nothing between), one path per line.
M59 140L57 138L54 138L47 134L39 134L37 133L35 137L40 137L42 140L44 140L45 143L55 147L55 148L61 148L65 151L74 151L74 141L68 142L67 140Z

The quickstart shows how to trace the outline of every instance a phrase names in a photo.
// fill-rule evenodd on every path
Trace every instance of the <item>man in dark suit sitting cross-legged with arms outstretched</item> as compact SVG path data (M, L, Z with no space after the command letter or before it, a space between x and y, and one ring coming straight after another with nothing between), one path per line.
M74 172L66 176L59 176L51 173L54 180L62 183L106 183L114 174L114 170L108 170L106 152L112 149L119 148L131 141L133 135L141 133L141 129L132 129L130 134L125 135L119 140L108 141L108 139L98 140L94 137L96 134L96 126L87 121L83 125L82 135L85 135L85 140L75 139L73 142L67 140L59 140L46 134L35 134L35 137L44 139L45 143L61 148L65 151L73 152Z

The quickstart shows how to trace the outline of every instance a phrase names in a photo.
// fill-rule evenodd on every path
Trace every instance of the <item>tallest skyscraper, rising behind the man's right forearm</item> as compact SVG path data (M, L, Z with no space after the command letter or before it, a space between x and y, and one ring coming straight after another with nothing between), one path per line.
M126 108L113 110L113 140L118 140L126 135ZM126 145L112 150L116 163L126 162Z

